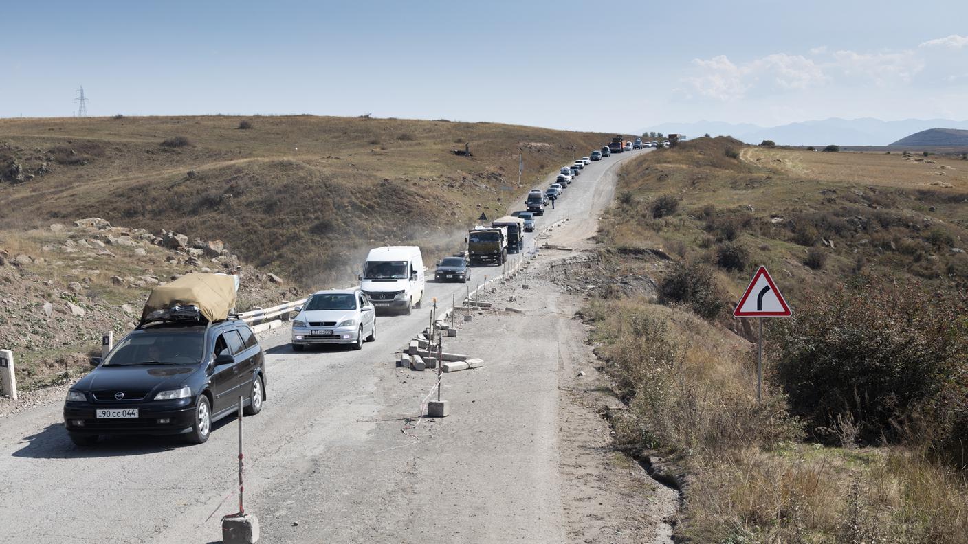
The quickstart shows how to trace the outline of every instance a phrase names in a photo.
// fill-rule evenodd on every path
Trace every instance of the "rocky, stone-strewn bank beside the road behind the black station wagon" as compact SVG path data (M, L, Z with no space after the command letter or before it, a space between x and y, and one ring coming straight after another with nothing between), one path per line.
M220 255L218 241L172 250L144 230L103 220L81 224L0 230L0 339L15 353L21 392L86 373L88 354L100 354L101 336L113 331L119 339L131 331L151 288L183 274L237 274L238 311L301 294Z

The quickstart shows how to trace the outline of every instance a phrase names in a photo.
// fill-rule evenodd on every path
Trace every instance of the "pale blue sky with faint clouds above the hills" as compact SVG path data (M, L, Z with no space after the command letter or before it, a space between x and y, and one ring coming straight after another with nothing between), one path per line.
M0 116L968 119L968 2L14 2Z

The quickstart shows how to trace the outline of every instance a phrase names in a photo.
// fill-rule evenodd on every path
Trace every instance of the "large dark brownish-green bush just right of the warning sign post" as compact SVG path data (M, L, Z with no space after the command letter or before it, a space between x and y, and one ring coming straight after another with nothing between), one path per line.
M916 283L856 284L814 292L794 317L771 322L774 378L794 413L818 437L849 417L868 442L903 438L925 409L959 420L954 403L963 406L968 382L953 378L968 369L966 300ZM968 440L968 429L952 424L941 435L936 448Z

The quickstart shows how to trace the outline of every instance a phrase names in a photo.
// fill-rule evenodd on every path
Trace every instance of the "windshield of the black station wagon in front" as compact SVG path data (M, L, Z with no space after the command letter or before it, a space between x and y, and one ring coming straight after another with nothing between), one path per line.
M202 334L171 330L143 331L125 337L111 350L105 366L197 365L201 362Z

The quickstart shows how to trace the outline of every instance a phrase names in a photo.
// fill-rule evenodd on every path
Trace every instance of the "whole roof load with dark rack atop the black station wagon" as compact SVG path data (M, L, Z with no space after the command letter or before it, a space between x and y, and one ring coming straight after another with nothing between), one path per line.
M226 274L186 274L151 289L141 324L151 321L221 321L235 307L238 278Z

